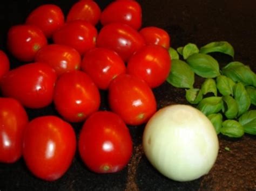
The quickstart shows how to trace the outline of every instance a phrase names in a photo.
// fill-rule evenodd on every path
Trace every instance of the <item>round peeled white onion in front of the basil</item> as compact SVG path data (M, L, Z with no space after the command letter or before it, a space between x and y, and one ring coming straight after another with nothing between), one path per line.
M201 111L177 104L158 110L147 122L143 149L161 174L191 181L210 171L219 142L212 123Z

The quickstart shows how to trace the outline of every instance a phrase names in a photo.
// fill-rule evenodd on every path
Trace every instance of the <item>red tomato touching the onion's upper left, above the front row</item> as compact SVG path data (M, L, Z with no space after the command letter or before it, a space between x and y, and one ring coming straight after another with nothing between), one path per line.
M129 125L146 123L157 110L150 87L142 79L129 74L120 74L110 83L109 105Z

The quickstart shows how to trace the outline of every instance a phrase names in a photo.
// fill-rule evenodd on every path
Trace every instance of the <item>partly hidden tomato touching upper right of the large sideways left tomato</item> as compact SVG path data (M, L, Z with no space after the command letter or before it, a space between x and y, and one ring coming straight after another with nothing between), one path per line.
M37 52L35 61L48 63L59 76L64 72L80 69L81 56L75 48L51 44Z

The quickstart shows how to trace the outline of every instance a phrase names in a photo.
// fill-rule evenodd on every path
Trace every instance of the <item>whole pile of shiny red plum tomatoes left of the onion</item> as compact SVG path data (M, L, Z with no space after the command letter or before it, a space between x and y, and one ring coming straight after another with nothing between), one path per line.
M100 10L80 0L67 15L57 5L38 6L9 29L7 45L24 64L10 69L0 51L0 162L23 157L32 174L53 181L78 149L91 171L121 171L132 155L127 125L145 124L157 110L152 88L171 69L169 34L142 28L136 1L113 1ZM108 93L109 110L99 110L100 91ZM26 108L51 103L59 116L29 121ZM84 123L78 140L73 122Z

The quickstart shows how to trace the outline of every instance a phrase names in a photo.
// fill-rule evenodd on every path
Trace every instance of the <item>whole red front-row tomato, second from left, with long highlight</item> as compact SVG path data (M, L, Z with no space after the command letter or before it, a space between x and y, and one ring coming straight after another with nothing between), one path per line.
M68 170L76 151L76 135L72 126L56 116L33 119L26 125L23 158L31 173L53 181Z

